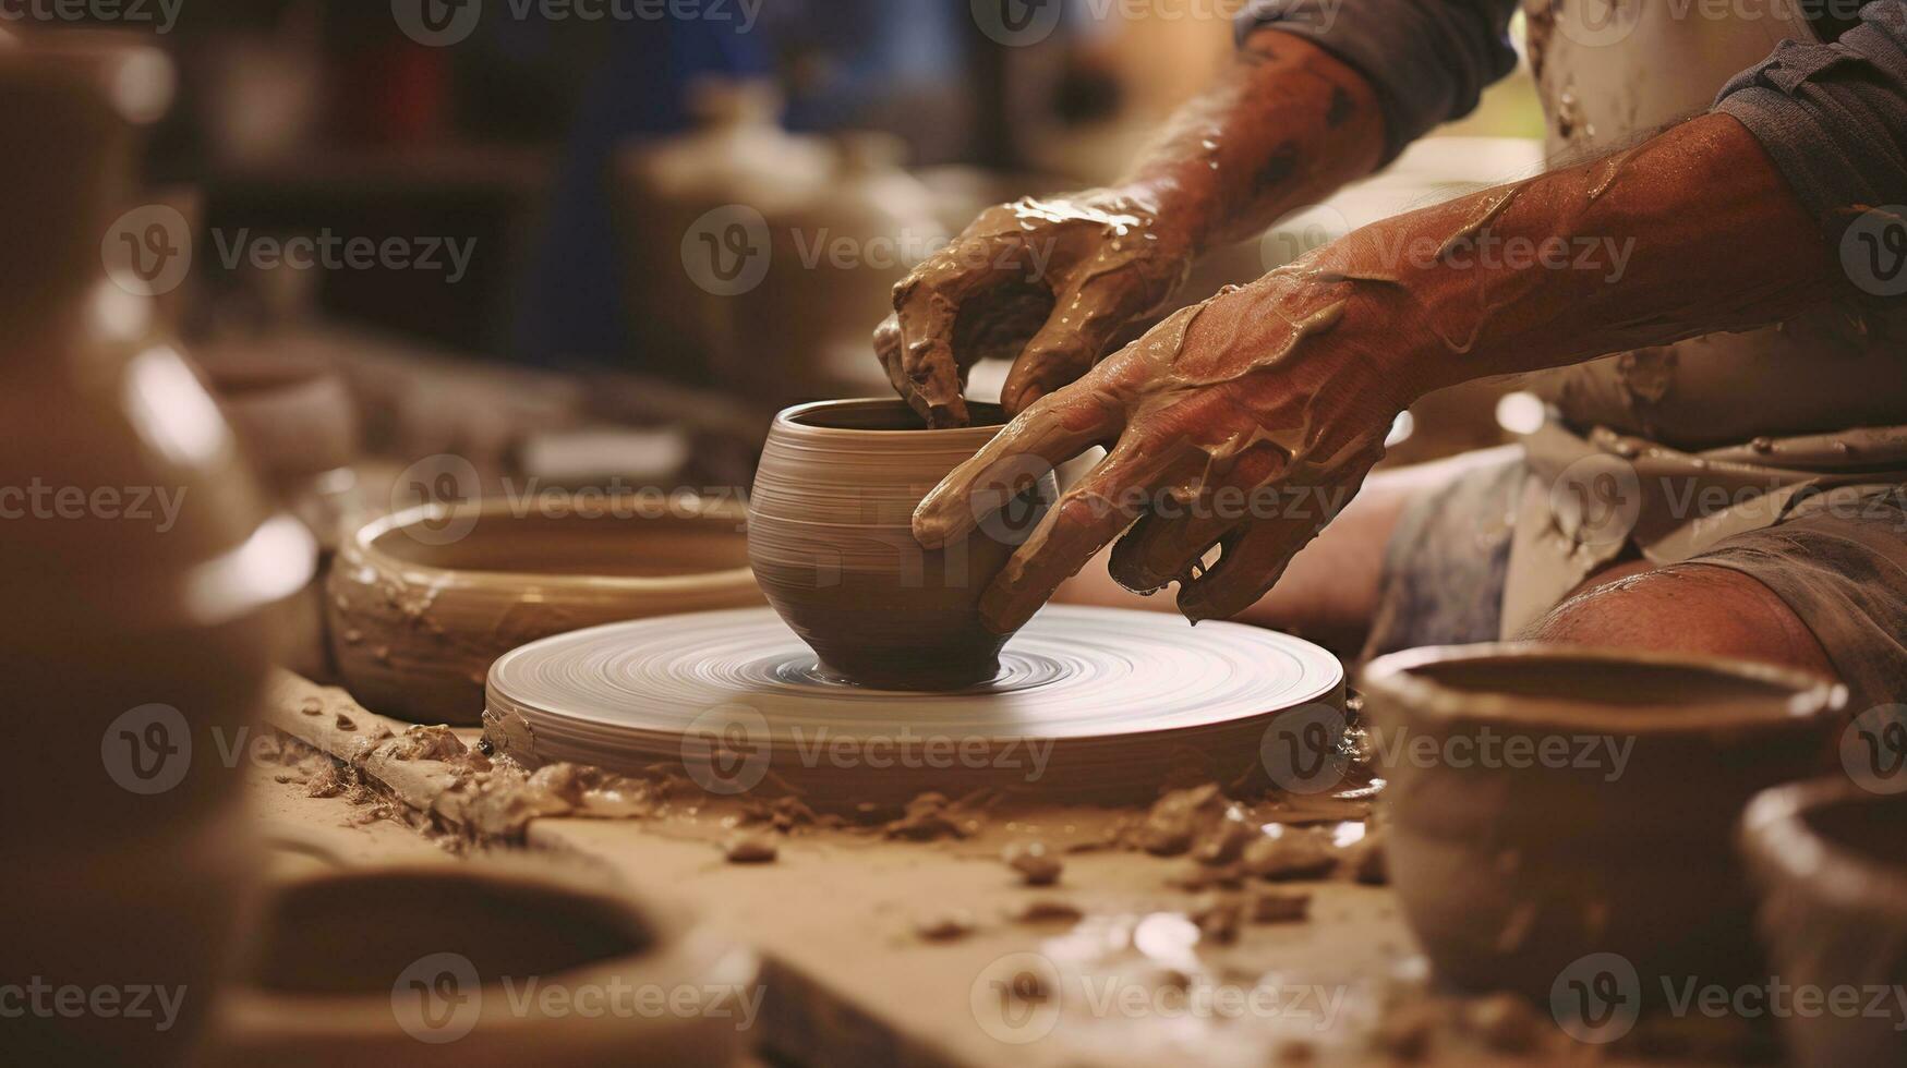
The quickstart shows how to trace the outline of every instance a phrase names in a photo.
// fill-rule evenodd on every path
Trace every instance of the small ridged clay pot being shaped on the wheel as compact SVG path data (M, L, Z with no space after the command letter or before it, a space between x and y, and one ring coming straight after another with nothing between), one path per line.
M1051 475L1001 523L927 551L913 507L999 433L925 429L900 400L824 400L774 418L749 496L748 559L769 603L841 679L889 690L992 681L1011 635L980 622L980 593L1058 496Z

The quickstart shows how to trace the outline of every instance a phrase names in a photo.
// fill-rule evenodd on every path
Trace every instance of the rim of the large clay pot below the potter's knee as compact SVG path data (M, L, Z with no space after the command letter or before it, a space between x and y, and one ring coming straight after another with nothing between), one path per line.
M1589 702L1566 692L1558 692L1554 698L1539 692L1491 692L1482 687L1459 687L1426 675L1434 668L1480 666L1487 662L1550 662L1610 669L1690 671L1768 692L1741 694L1732 700L1709 702L1701 708L1690 708L1674 700L1606 700L1585 708ZM1394 652L1367 664L1360 673L1358 685L1367 694L1398 702L1413 713L1432 719L1495 719L1564 729L1619 727L1630 734L1791 727L1798 721L1838 713L1848 702L1848 688L1840 683L1774 664L1722 656L1541 643L1453 645Z

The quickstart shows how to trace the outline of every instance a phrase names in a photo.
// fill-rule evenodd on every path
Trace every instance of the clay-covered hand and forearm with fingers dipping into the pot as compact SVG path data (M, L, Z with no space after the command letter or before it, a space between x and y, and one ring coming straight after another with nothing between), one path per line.
M1360 74L1302 38L1253 34L1129 181L1001 204L923 261L894 288L875 353L929 425L969 421L967 370L990 355L1015 360L1001 402L1020 412L1161 311L1203 250L1369 174L1381 151Z

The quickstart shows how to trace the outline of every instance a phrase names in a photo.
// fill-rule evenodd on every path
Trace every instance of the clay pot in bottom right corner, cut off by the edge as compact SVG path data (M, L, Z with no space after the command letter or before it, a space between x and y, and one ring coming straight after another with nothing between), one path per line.
M1823 992L1823 1009L1781 1017L1794 1064L1907 1064L1897 990L1907 988L1907 795L1848 780L1770 790L1749 805L1741 845L1762 891L1756 927L1774 973ZM1836 990L1856 990L1856 996ZM1878 990L1884 1009L1871 1011ZM1846 1001L1852 997L1852 1001Z

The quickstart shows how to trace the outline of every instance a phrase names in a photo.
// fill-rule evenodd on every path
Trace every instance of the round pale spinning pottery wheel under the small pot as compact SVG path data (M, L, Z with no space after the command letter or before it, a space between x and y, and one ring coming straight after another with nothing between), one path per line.
M1167 780L1262 776L1270 721L1343 696L1343 666L1306 641L1077 606L1036 616L992 683L873 690L828 677L770 608L744 608L517 648L490 668L484 725L530 767L677 765L713 793L831 807L982 788L1135 801Z

